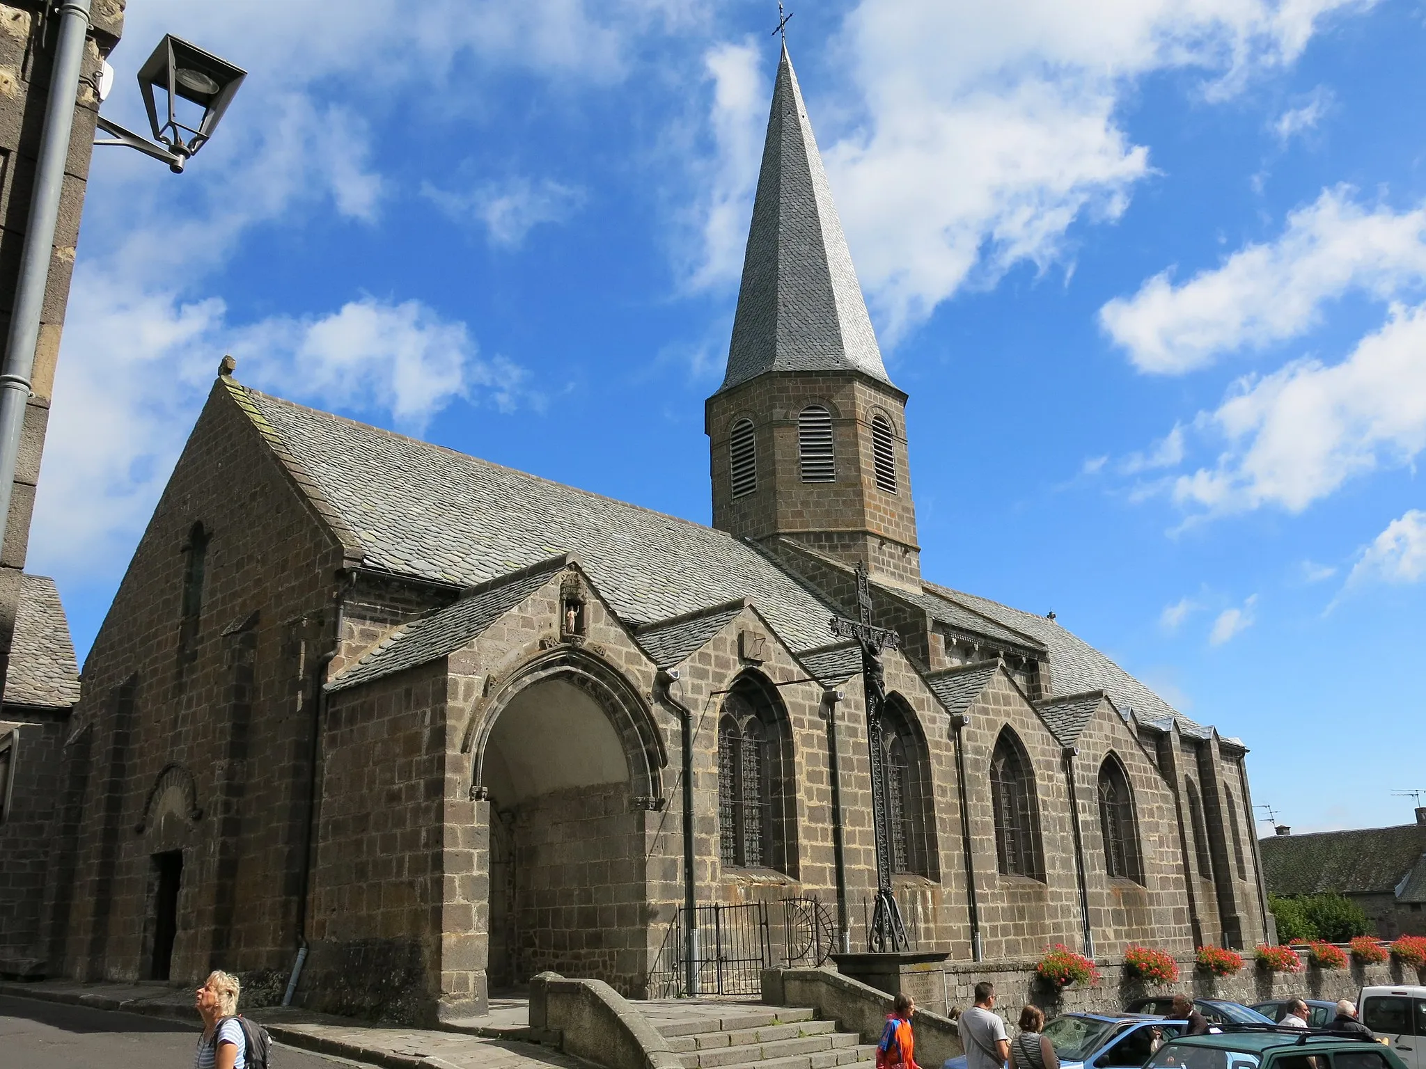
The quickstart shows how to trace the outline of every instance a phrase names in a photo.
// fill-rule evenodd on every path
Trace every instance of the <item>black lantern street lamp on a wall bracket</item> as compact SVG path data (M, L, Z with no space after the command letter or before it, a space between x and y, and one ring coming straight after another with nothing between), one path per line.
M137 148L163 160L168 170L180 174L188 157L207 144L247 76L241 67L234 67L197 44L164 34L154 54L138 68L138 91L144 97L148 127L158 144L103 115L98 117L98 128L114 137L94 144ZM161 101L154 98L155 90L163 94ZM195 125L188 125L180 115L188 117L193 108L202 108L202 115L194 120Z

